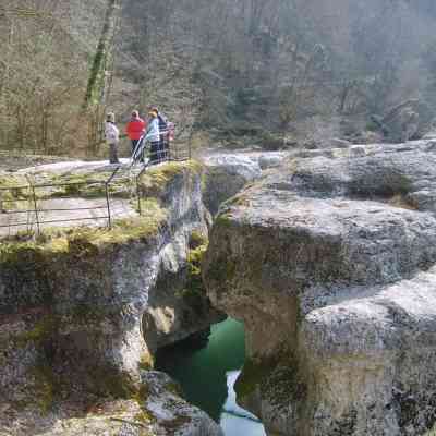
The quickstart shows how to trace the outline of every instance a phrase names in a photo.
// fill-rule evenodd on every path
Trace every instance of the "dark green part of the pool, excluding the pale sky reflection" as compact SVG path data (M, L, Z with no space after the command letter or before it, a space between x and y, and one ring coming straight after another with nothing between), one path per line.
M240 370L244 358L244 327L228 318L211 327L208 346L204 349L173 347L159 352L157 370L177 379L187 401L219 422L228 396L227 372Z

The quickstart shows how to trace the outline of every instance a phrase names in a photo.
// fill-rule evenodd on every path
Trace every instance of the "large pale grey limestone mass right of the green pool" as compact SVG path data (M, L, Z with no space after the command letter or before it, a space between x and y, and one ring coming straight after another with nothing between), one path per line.
M434 149L290 159L220 210L204 278L245 324L239 400L270 434L422 435L435 422Z

